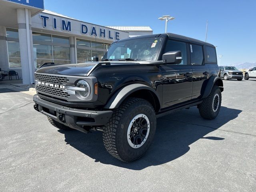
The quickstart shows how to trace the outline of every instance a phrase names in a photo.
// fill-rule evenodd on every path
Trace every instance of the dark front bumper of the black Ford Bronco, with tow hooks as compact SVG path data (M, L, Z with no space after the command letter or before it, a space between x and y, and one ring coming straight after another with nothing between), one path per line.
M74 129L81 130L83 126L102 126L107 124L113 111L94 111L69 108L48 102L34 95L34 109L54 120Z

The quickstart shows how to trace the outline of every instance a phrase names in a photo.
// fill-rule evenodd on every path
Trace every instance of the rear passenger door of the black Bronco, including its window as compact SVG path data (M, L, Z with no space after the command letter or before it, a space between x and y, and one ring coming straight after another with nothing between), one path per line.
M209 78L210 71L204 64L203 46L198 44L190 44L190 61L193 70L193 89L192 99L201 95L202 85Z

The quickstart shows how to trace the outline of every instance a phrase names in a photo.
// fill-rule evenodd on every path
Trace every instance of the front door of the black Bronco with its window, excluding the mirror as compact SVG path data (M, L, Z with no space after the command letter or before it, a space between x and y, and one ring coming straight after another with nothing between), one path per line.
M181 51L180 64L161 66L163 75L163 108L186 102L192 94L192 68L189 61L189 49L186 42L168 40L165 52Z

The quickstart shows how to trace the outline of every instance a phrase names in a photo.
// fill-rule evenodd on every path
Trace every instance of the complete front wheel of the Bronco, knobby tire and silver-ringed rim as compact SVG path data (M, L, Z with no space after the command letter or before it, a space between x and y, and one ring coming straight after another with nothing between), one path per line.
M106 150L115 158L132 162L141 158L152 144L156 115L152 105L140 98L128 98L114 110L103 131Z

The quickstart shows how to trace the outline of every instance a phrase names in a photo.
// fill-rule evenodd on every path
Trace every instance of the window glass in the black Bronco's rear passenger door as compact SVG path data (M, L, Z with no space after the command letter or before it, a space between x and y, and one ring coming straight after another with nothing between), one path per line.
M202 65L204 62L203 47L190 44L191 65Z

